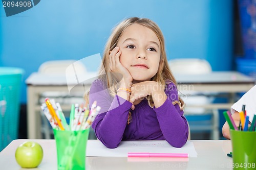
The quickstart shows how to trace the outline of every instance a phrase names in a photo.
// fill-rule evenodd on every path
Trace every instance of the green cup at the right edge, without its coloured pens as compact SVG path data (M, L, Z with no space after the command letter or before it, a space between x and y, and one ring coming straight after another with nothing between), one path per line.
M256 169L256 131L230 129L233 169Z

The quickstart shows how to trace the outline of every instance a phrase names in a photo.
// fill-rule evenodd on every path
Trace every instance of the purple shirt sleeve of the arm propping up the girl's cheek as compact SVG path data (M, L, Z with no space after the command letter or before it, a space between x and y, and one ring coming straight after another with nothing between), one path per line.
M107 148L116 148L122 140L132 103L118 95L114 98L110 96L108 89L104 88L99 80L93 82L90 88L90 105L94 101L97 101L97 105L102 109L96 116L92 128Z

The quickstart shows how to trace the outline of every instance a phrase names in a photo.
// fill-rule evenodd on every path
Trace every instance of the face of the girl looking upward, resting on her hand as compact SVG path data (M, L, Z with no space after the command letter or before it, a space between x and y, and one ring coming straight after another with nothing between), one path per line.
M160 62L160 41L149 28L134 23L127 27L117 46L120 47L120 63L130 72L133 82L151 80Z

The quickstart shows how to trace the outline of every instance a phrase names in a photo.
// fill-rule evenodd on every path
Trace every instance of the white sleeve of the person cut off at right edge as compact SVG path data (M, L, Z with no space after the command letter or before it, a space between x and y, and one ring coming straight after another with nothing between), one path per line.
M231 113L235 111L241 112L245 105L246 115L249 116L249 121L252 122L253 115L256 114L256 85L247 91L242 98L231 106Z

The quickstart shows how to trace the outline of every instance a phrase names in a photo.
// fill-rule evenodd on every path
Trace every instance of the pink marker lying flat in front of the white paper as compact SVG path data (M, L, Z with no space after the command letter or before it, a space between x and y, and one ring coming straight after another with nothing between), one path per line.
M139 157L139 158L143 158L143 157L188 158L188 154L129 152L128 157Z

